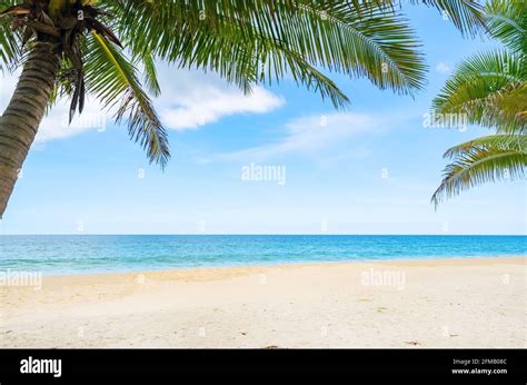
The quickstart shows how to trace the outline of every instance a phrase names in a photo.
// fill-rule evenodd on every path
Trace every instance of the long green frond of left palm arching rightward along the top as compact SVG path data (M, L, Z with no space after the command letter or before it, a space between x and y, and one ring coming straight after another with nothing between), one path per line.
M278 81L295 68L318 90L346 100L321 70L367 77L411 93L425 83L419 42L395 10L347 1L103 1L133 53L150 50L172 62L209 69L245 90ZM137 38L132 31L145 31ZM129 37L127 39L127 37ZM292 63L292 66L291 66ZM294 75L295 77L295 75ZM301 77L302 80L305 77ZM322 95L324 96L324 95Z

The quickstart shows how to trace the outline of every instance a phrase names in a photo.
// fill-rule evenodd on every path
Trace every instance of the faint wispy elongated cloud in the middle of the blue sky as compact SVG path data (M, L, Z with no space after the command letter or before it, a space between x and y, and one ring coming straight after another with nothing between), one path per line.
M277 142L223 154L216 159L261 160L289 154L317 154L345 144L349 138L381 128L382 121L374 116L336 112L302 117L286 125L285 136ZM361 154L365 154L361 148ZM366 151L367 152L367 151Z

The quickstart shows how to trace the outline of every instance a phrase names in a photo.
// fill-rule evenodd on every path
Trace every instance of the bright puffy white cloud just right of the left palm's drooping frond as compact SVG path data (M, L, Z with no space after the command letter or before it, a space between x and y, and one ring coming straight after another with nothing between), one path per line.
M162 95L157 100L161 120L175 130L198 129L223 117L238 113L265 113L285 105L261 87L243 95L218 76L163 67L160 71Z

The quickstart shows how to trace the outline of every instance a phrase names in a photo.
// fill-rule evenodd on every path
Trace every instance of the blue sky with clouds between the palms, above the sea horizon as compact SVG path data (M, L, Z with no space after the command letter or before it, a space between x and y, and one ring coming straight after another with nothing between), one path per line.
M69 128L67 105L59 106L41 126L0 230L526 234L525 181L475 188L437 211L430 205L443 152L488 130L424 128L424 115L449 70L490 43L464 40L436 10L405 13L429 66L428 86L414 99L334 76L352 101L336 111L288 79L247 97L212 73L160 65L156 106L172 150L165 172L97 102ZM16 79L1 81L3 108ZM245 167L259 166L284 175L242 177Z

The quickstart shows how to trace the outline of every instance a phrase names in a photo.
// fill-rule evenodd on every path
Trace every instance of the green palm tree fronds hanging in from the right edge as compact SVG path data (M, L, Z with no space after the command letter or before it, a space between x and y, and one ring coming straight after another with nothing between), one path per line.
M493 0L486 20L490 37L505 48L463 61L434 100L440 113L464 115L494 135L450 148L454 161L431 200L436 205L461 190L495 180L525 177L527 167L527 2Z

